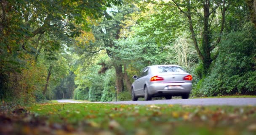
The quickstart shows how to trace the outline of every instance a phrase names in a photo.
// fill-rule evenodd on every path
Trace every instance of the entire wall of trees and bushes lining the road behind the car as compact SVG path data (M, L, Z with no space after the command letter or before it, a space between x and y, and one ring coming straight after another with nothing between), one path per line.
M160 64L192 74L191 97L255 95L255 2L2 0L0 99L131 100Z

